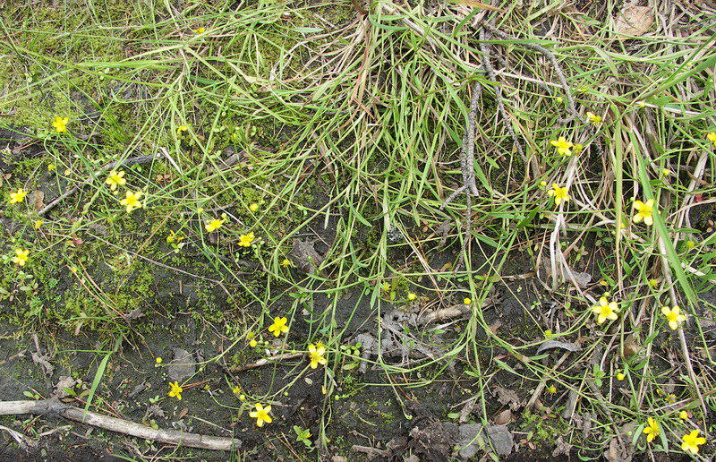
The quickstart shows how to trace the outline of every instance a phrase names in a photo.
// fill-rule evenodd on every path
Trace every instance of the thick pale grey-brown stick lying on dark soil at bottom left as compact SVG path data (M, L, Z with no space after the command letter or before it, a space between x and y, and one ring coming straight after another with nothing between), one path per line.
M110 432L124 433L143 440L158 441L177 446L211 450L233 450L241 447L241 441L233 438L200 435L198 433L178 432L176 430L155 430L141 424L123 419L84 412L82 409L66 405L59 399L41 399L38 401L0 401L0 415L60 415L65 419L88 424Z

